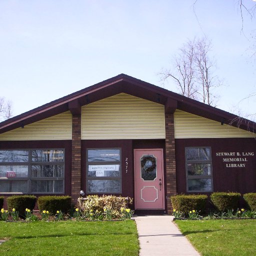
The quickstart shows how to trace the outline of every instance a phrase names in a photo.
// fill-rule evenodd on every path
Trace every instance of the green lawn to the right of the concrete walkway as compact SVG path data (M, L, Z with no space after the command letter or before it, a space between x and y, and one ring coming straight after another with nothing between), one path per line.
M256 255L256 220L175 220L202 256Z

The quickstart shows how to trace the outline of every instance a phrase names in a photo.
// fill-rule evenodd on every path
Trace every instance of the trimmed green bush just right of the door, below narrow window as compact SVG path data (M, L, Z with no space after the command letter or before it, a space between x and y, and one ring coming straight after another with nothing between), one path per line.
M205 194L178 194L170 197L173 209L188 214L190 210L204 212L208 196Z

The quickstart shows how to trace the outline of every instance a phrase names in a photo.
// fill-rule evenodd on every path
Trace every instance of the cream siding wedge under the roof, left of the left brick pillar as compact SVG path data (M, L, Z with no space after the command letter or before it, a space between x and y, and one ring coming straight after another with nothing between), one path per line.
M72 114L66 111L0 134L0 140L72 139Z

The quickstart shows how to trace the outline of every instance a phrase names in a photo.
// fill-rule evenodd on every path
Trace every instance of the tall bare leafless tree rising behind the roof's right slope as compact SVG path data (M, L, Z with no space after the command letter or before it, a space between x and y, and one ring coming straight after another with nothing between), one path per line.
M216 97L212 89L220 82L214 75L216 65L210 51L211 41L206 37L188 40L173 56L172 68L158 73L161 81L172 78L180 94L212 105Z

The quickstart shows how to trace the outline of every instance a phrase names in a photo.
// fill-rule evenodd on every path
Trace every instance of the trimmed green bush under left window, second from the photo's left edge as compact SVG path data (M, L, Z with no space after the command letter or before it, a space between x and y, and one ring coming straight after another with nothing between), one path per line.
M33 210L36 197L34 195L13 195L7 197L6 200L9 211L14 208L21 218L25 218L25 209Z

